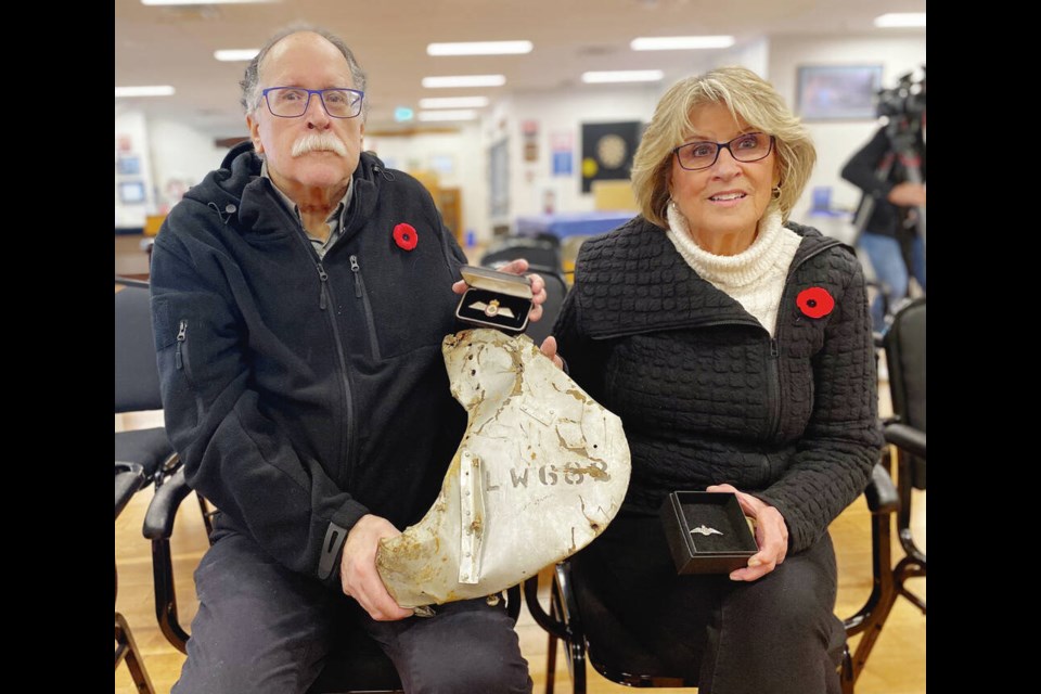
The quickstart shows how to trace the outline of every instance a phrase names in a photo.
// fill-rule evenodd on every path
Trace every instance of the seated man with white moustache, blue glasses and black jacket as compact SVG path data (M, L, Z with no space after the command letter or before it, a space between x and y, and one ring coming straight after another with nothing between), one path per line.
M304 692L360 628L409 692L530 692L501 604L415 617L375 568L465 427L440 354L465 257L430 195L362 152L364 73L342 40L283 31L242 88L250 142L174 208L152 259L167 429L221 510L174 691Z

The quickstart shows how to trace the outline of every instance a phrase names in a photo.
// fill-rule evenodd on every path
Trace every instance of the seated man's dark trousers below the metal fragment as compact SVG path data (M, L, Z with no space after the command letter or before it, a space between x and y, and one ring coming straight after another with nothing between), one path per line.
M339 629L363 629L410 694L529 693L528 664L502 604L449 603L430 618L372 620L346 595L291 571L235 532L195 570L198 613L176 694L292 694L314 681Z

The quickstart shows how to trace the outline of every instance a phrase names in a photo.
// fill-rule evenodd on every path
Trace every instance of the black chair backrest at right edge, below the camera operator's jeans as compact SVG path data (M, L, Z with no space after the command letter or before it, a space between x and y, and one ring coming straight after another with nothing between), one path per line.
M925 432L925 297L892 314L883 338L892 412L900 422ZM914 486L925 488L925 462L913 464Z

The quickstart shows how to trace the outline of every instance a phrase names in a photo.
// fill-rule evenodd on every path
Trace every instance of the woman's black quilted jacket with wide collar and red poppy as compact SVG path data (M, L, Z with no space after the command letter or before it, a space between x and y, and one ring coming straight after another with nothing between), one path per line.
M582 245L554 334L571 376L622 419L626 509L730 483L776 506L797 552L863 491L882 436L860 264L787 226L802 242L773 338L642 217ZM834 307L814 318L820 290Z

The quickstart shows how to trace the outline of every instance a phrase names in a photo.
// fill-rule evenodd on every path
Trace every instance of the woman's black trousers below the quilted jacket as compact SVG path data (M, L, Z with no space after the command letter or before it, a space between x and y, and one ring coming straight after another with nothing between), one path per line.
M677 576L660 520L619 514L571 560L590 659L701 694L833 694L846 633L831 537L754 582Z

